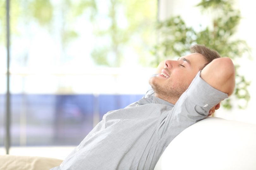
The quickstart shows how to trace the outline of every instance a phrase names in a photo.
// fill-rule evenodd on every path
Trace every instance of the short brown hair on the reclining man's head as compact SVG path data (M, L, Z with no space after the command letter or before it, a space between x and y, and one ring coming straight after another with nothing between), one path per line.
M199 53L202 54L206 60L206 64L200 68L200 70L203 70L203 68L208 65L212 60L220 58L221 56L219 53L215 50L212 50L208 47L205 47L204 45L195 44L192 45L189 48L191 53Z

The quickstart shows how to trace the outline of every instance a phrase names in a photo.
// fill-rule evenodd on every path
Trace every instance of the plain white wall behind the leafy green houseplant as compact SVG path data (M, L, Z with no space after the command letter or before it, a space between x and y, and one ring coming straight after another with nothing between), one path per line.
M201 0L160 0L160 20L164 20L170 16L181 15L187 25L193 26L195 29L198 24L203 26L211 25L210 15L202 14L200 9L195 7ZM230 120L237 120L242 122L249 122L256 124L256 111L254 105L256 104L256 2L250 0L236 0L234 1L235 8L241 10L241 23L238 27L236 37L247 41L247 44L252 48L253 60L242 58L239 63L241 65L240 73L246 76L247 80L251 81L249 92L251 100L246 110L240 110L235 107L232 110L225 110L220 108L217 110L215 116ZM234 101L237 105L238 101Z

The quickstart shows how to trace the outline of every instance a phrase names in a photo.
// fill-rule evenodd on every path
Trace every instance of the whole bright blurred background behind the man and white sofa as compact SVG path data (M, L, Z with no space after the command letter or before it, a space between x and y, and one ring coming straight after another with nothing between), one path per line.
M0 154L64 159L110 110L141 99L163 59L194 43L233 59L237 84L214 116L256 124L254 1L0 0ZM221 19L220 19L221 18ZM170 36L171 35L171 36Z

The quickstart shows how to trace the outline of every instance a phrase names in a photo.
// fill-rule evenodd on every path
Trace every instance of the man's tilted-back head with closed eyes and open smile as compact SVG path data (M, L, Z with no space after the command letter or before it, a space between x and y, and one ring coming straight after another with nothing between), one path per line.
M155 91L155 96L175 104L181 94L186 91L198 73L213 59L220 55L204 45L193 45L188 54L178 60L164 61L162 73L151 77L149 84Z

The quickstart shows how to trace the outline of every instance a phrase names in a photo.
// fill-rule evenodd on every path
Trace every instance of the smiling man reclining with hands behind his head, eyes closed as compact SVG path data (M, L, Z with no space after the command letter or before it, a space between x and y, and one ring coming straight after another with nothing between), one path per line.
M124 109L109 111L59 167L53 169L151 170L184 129L211 115L234 91L229 58L203 45L166 60L149 79L153 90ZM155 92L155 96L154 96Z

